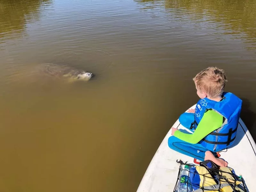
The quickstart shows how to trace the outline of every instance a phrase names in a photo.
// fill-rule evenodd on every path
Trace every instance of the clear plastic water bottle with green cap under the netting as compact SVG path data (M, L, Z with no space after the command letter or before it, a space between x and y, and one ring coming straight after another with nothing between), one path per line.
M189 166L185 165L184 169L180 173L180 185L178 188L178 192L191 192L193 191L192 186L189 182Z

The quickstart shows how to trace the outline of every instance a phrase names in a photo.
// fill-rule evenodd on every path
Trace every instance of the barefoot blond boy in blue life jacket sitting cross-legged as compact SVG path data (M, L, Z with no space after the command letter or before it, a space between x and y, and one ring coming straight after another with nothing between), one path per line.
M193 134L172 127L173 136L168 139L168 145L201 161L212 160L220 166L228 166L226 161L216 157L216 152L234 143L242 100L233 93L224 92L227 80L222 69L206 68L193 80L200 100L195 109L179 117L180 123Z

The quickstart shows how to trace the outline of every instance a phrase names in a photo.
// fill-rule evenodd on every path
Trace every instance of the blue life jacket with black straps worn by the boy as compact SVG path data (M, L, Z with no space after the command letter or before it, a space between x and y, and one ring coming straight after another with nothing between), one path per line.
M217 102L208 98L200 99L196 104L195 121L191 128L196 129L207 110L214 110L223 116L223 124L208 134L199 143L206 149L217 152L234 143L242 100L230 92L223 93L223 100Z

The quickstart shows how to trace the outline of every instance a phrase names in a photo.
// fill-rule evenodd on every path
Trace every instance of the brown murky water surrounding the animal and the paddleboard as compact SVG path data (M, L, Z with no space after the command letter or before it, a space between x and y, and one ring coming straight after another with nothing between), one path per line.
M136 191L208 66L256 138L254 0L1 0L0 26L1 191ZM41 63L95 77L45 81Z

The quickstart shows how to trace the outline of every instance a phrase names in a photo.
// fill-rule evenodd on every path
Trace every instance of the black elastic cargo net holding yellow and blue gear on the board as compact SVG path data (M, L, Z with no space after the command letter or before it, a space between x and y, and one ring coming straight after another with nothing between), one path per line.
M237 176L234 169L220 167L210 160L200 162L200 165L183 163L181 160L178 178L173 192L178 192L180 182L186 182L187 191L194 192L249 192L242 176ZM189 171L183 169L189 166ZM188 172L188 180L180 178L181 172ZM193 189L192 189L193 188Z

